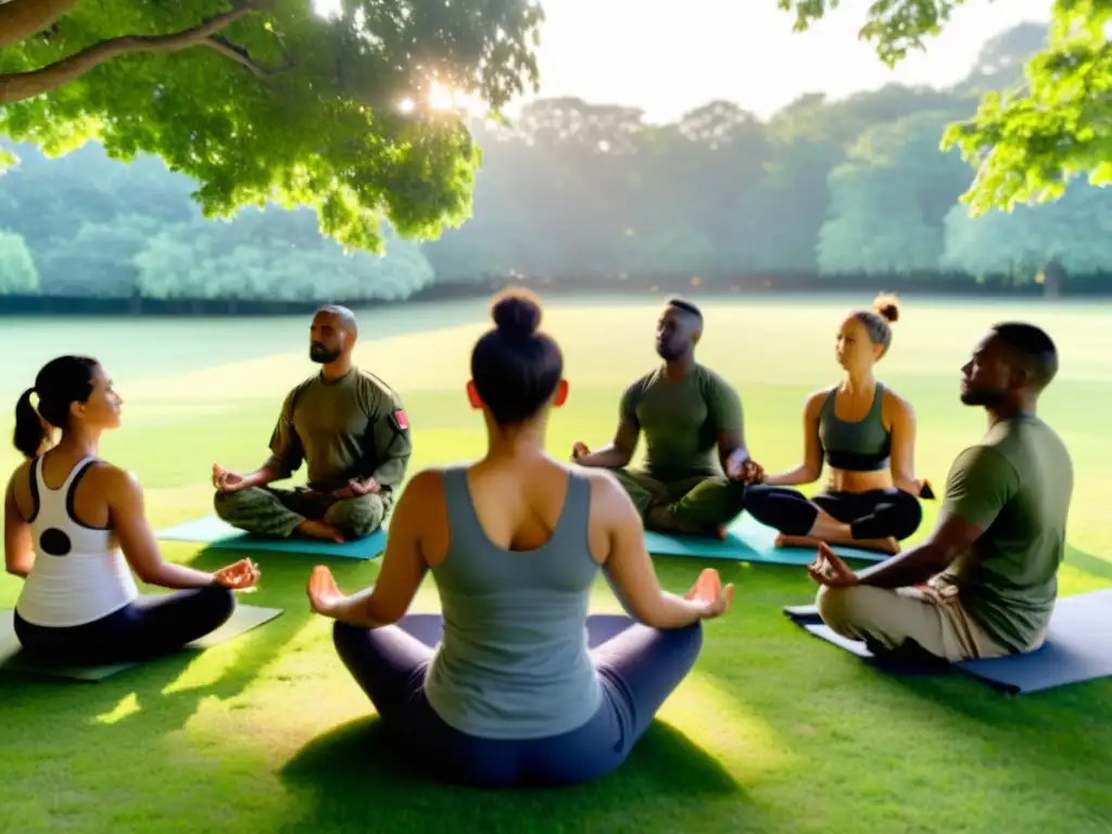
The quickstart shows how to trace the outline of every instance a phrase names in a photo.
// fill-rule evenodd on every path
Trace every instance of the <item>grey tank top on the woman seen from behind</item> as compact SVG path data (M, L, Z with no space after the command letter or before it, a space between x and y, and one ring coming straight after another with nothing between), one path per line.
M529 552L494 545L479 525L467 468L444 471L449 546L431 569L444 637L425 683L451 727L480 738L543 738L583 726L602 704L587 649L590 483L568 477L552 537Z

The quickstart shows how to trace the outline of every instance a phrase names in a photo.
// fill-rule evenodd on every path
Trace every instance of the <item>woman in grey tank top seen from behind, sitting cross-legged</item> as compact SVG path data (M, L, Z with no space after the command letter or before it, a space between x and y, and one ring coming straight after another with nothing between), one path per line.
M399 756L453 782L573 784L625 761L733 586L706 570L684 597L662 590L614 476L544 450L568 389L539 305L508 292L493 315L467 386L486 456L413 478L374 587L345 596L317 567L308 594ZM443 616L407 615L429 572ZM587 614L599 573L631 616Z

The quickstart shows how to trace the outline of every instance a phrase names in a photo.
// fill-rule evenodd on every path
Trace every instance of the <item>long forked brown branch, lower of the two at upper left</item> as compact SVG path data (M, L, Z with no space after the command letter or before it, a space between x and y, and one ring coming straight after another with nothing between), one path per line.
M23 2L23 0L12 0ZM89 70L122 54L137 52L178 52L191 47L210 47L221 54L244 63L256 75L265 71L246 50L228 41L214 41L212 36L237 20L269 6L267 0L236 0L230 11L215 14L195 27L170 34L129 36L95 43L76 54L30 72L0 73L0 105L34 98L76 81ZM0 9L3 7L0 6Z

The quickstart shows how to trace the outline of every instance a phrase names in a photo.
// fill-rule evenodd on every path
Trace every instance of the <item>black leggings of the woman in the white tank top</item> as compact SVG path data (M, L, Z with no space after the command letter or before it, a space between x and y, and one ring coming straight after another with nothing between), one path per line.
M16 636L26 652L52 663L136 663L179 651L227 623L235 609L231 590L209 586L141 596L79 626L38 626L16 612Z

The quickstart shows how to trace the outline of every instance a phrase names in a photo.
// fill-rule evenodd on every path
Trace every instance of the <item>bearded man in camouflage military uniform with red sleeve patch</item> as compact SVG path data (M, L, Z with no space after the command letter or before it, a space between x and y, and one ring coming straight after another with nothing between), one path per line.
M411 450L409 421L398 395L351 363L355 315L329 305L309 330L309 358L320 373L282 403L270 457L249 475L212 466L217 515L250 533L295 532L344 542L377 530L401 485ZM308 484L269 486L305 463Z

